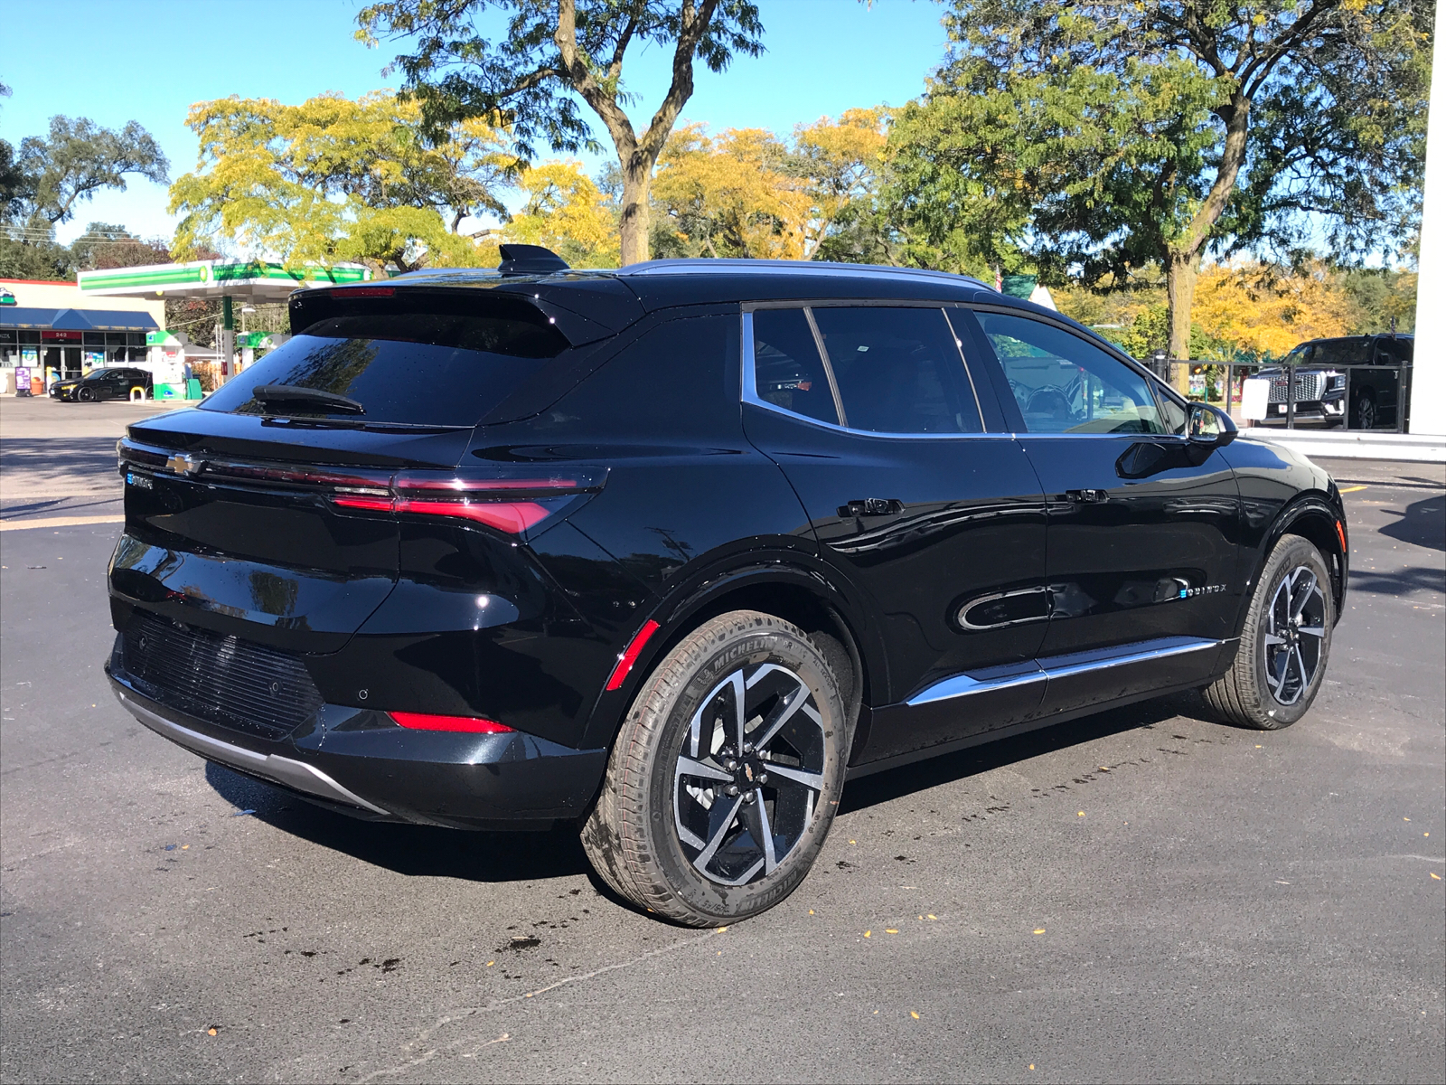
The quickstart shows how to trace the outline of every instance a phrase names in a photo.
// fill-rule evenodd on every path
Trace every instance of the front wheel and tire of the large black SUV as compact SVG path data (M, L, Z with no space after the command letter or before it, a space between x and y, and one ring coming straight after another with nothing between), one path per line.
M1241 726L1288 728L1320 692L1335 619L1325 558L1309 540L1285 535L1255 584L1235 663L1206 687L1206 702Z

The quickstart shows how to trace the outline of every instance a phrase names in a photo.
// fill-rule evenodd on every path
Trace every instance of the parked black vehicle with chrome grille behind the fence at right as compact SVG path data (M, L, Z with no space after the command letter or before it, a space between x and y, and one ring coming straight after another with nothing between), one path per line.
M1401 373L1414 349L1414 336L1313 339L1294 347L1281 366L1297 366L1296 421L1340 425L1349 417L1352 430L1394 430L1395 412L1404 409ZM1288 415L1290 382L1281 366L1258 373L1271 382L1267 425L1284 425Z

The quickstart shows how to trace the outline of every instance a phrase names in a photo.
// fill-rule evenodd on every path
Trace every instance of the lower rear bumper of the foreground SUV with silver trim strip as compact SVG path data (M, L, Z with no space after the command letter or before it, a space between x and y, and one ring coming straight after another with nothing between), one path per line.
M120 703L207 761L343 813L453 829L542 829L586 813L606 749L521 732L408 731L386 713L322 705L279 741L244 735L147 697L106 665Z

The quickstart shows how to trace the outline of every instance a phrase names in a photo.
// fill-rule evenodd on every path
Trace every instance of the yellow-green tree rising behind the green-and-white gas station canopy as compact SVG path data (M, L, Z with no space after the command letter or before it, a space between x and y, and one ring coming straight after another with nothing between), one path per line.
M455 123L440 142L421 136L415 103L388 93L357 101L324 94L301 106L220 98L191 107L201 140L194 174L171 187L182 214L175 247L223 239L288 263L362 260L376 269L476 265L467 218L503 216L499 191L516 161L480 120Z

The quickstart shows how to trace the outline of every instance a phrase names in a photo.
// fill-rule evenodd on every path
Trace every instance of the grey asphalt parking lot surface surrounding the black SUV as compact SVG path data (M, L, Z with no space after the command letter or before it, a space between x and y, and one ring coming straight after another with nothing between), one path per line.
M1352 593L1297 726L1176 697L857 781L798 893L693 932L568 833L351 822L121 710L134 409L0 404L4 1081L1446 1075L1440 466L1327 464Z

